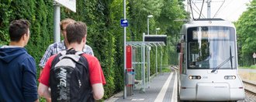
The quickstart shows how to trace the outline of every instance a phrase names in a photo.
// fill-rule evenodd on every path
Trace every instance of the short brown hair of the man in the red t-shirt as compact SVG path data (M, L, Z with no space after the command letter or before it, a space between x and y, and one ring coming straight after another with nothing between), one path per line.
M81 43L81 39L87 34L87 26L84 22L74 22L67 26L67 42Z

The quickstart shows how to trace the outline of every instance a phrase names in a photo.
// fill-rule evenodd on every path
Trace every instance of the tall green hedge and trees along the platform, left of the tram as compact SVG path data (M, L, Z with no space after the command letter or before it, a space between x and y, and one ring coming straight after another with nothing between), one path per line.
M147 15L154 15L150 21L150 34L161 28L157 34L166 34L167 46L158 47L158 65L177 64L175 44L184 19L183 0L126 0L127 41L142 41L143 32L147 33ZM76 1L77 12L61 7L61 19L71 18L86 22L88 26L87 44L92 46L106 77L105 96L123 90L123 28L119 20L123 19L123 0L86 0ZM53 1L44 0L0 0L0 46L8 45L9 23L14 19L28 19L31 22L31 36L26 49L39 64L43 53L54 42L54 6ZM163 59L160 59L161 53ZM155 73L155 49L150 52L150 74ZM140 60L140 58L139 58ZM37 66L37 70L39 66ZM39 72L38 72L39 74ZM39 75L37 75L39 76Z

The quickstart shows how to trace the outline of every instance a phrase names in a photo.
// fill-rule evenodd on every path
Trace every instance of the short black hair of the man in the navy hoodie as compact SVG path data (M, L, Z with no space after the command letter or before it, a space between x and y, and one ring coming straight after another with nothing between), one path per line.
M19 19L12 21L9 26L9 36L12 42L18 42L21 37L28 33L29 21L26 19Z

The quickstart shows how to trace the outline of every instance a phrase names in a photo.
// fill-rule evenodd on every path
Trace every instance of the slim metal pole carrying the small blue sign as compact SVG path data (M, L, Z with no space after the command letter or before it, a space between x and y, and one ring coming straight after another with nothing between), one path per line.
M123 19L126 19L126 0L123 0ZM126 98L126 27L123 28L123 99Z

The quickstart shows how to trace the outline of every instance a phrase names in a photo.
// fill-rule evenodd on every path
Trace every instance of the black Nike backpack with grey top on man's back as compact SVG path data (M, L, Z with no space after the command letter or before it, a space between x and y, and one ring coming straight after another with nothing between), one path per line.
M94 101L84 53L64 50L55 56L50 69L51 100L61 102Z

